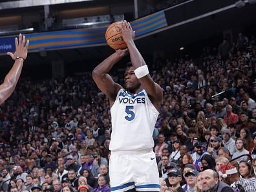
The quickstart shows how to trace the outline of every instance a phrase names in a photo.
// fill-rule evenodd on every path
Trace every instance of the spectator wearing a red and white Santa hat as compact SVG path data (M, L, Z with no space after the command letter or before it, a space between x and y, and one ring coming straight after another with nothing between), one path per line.
M239 175L237 168L232 164L224 164L220 166L220 172L222 178L224 178L225 182L229 185L231 184L239 184L244 187L244 191L246 192L255 192L255 186L253 183L249 182L245 178Z

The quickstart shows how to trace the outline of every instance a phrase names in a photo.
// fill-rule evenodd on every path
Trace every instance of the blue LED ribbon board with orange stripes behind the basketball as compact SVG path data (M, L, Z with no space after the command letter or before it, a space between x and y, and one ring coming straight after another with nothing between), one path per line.
M156 12L149 16L131 21L131 26L135 30L135 35L141 36L167 26L164 12ZM93 47L104 45L105 31L102 28L81 28L74 30L60 30L54 32L41 32L37 34L27 34L30 44L28 50L57 50L63 48ZM15 50L15 37L0 37L0 52L13 52Z

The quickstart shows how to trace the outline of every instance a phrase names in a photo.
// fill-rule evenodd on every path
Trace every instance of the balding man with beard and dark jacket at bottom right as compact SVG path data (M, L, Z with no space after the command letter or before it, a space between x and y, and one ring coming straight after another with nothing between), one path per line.
M210 169L202 171L200 183L202 184L202 191L233 192L228 184L219 180L218 173Z

